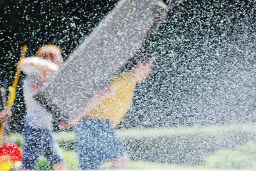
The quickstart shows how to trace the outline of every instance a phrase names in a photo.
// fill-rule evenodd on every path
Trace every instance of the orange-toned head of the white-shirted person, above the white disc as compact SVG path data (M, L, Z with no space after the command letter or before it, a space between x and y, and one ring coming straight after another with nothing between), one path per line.
M40 47L36 56L52 61L53 63L58 64L58 66L61 66L63 63L61 49L55 45L44 45Z

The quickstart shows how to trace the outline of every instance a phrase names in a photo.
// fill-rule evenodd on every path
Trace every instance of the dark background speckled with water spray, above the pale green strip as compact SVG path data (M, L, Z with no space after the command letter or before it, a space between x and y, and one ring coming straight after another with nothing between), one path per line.
M12 84L22 45L32 56L52 43L67 59L115 3L0 1L1 84ZM119 127L254 122L255 17L254 1L184 1L173 8L133 57L157 59ZM13 131L22 130L25 115L23 78Z

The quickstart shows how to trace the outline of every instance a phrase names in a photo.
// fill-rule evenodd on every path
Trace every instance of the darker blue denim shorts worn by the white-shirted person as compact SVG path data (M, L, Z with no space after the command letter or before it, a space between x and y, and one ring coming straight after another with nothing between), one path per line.
M24 139L22 168L34 170L40 155L43 155L51 165L63 162L60 147L56 144L52 131L26 125Z

